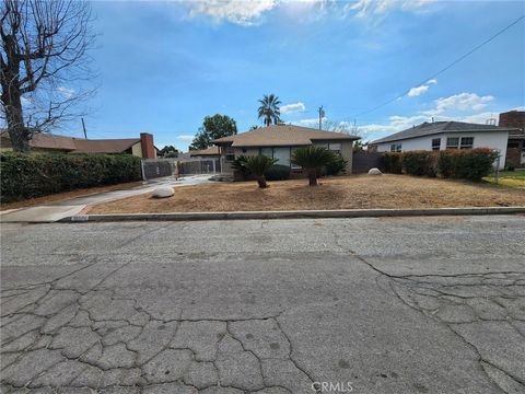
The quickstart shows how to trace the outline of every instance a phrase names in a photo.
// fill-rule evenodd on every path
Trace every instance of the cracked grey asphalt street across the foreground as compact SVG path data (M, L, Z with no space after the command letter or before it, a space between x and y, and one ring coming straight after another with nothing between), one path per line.
M1 235L2 393L525 391L524 217Z

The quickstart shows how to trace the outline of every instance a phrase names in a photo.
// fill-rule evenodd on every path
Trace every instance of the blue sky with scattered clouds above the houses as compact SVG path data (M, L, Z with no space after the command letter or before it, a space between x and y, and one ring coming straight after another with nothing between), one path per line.
M279 95L287 123L316 127L324 105L326 121L352 129L355 119L365 140L432 116L486 123L525 105L524 20L427 80L525 14L523 1L97 1L93 10L90 138L149 131L156 146L185 150L206 115L226 114L240 131L260 125L265 93Z

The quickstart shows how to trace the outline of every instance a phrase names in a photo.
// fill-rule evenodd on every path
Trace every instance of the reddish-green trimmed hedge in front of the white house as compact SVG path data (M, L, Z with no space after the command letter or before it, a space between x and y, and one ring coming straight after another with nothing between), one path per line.
M488 148L385 152L382 166L393 174L481 181L490 174L497 159L498 152Z

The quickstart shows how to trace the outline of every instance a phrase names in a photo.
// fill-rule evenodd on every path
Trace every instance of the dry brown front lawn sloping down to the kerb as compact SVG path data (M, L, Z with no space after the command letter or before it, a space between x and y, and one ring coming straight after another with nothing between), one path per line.
M308 187L306 179L205 184L155 199L139 195L93 207L90 213L155 213L295 209L439 208L525 206L525 192L487 184L406 175L345 176Z

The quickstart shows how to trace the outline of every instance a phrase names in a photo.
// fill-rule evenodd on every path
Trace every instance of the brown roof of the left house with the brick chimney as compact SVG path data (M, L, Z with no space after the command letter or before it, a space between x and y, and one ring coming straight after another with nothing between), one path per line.
M2 146L10 148L11 141L7 130L0 132ZM101 139L91 140L83 138L55 136L51 134L37 132L30 140L30 147L35 149L59 150L71 153L121 153L131 148L139 138Z

